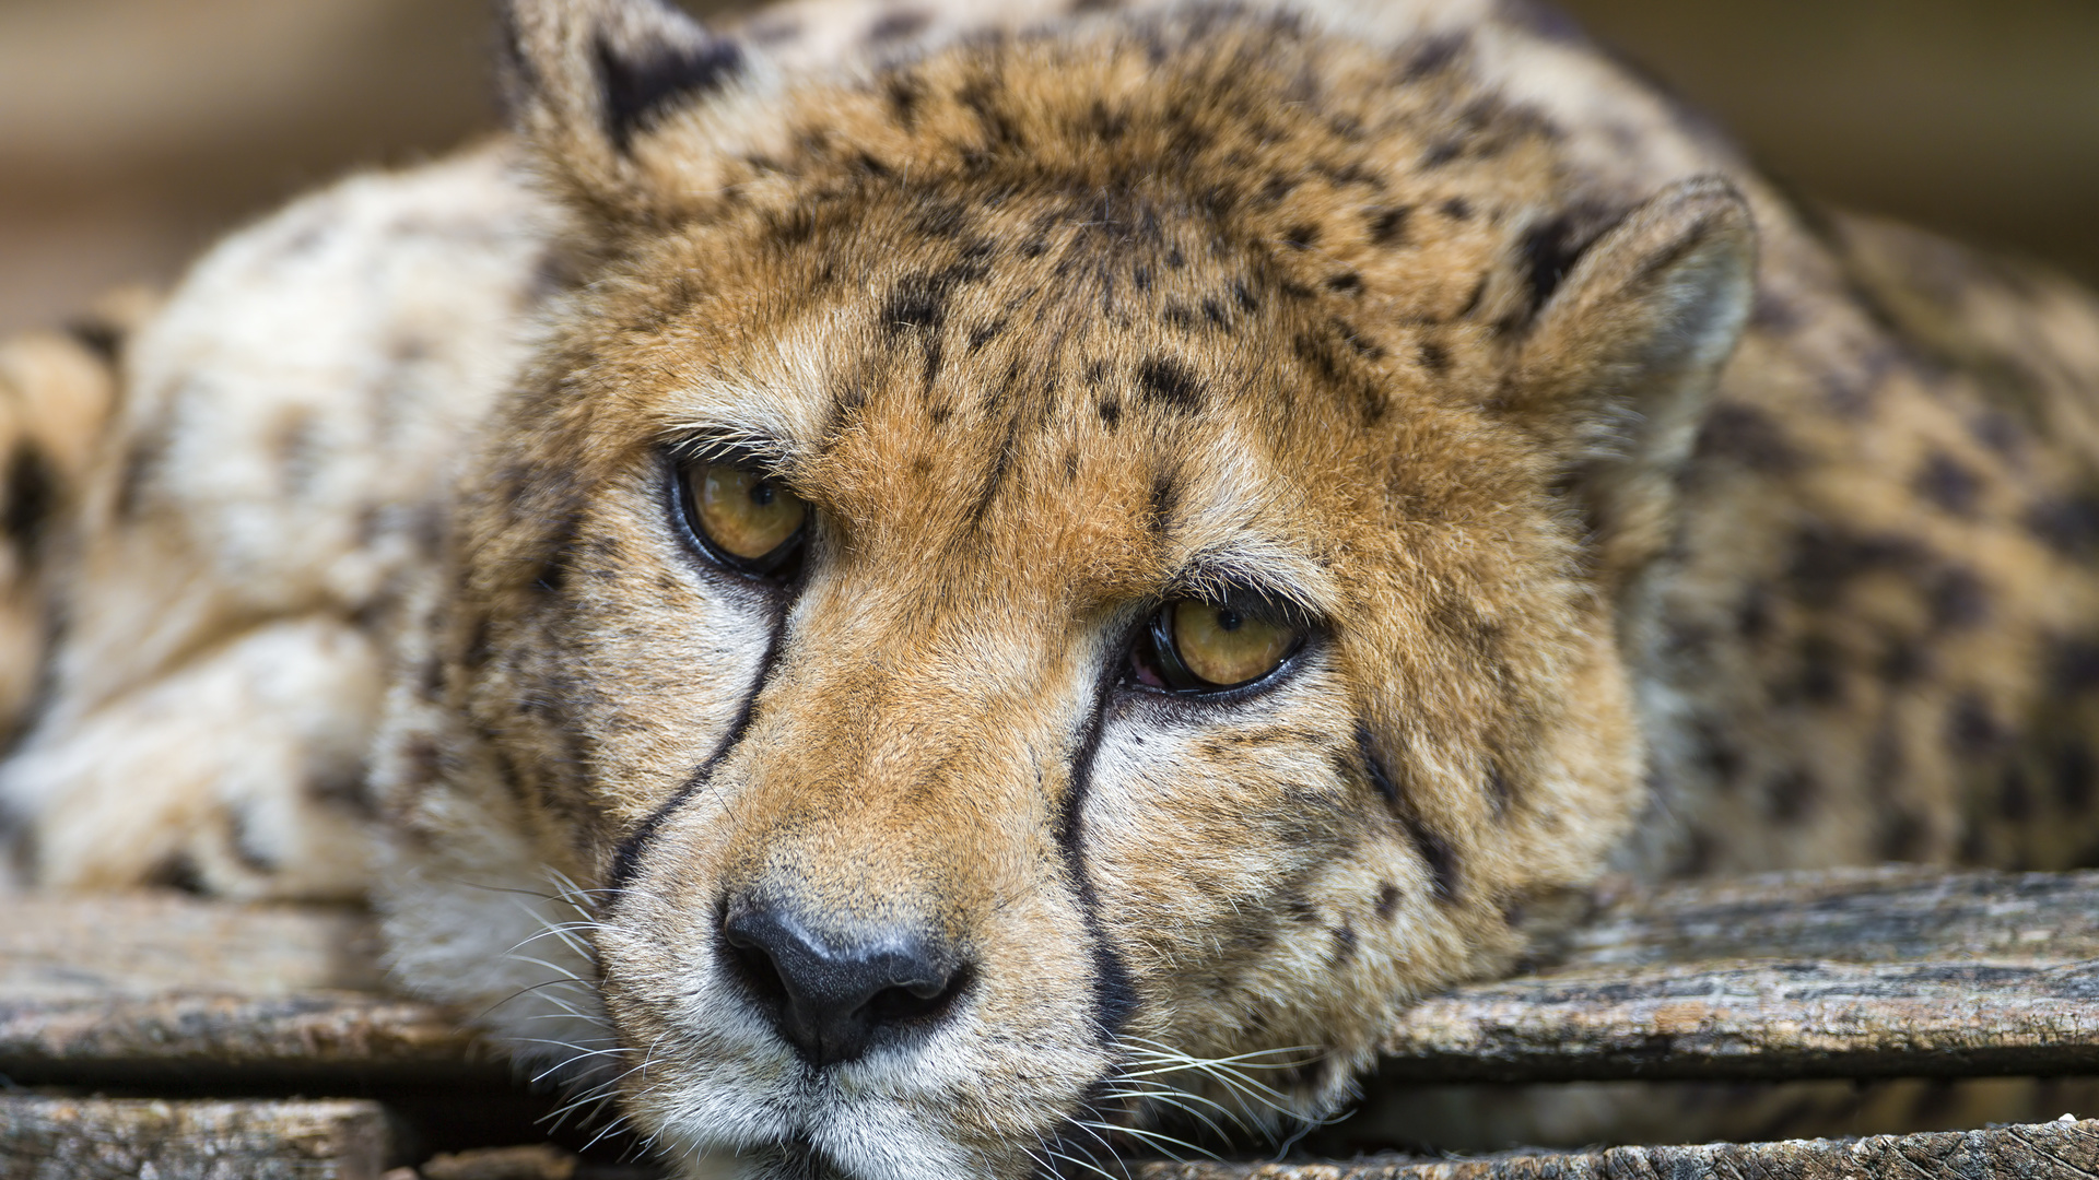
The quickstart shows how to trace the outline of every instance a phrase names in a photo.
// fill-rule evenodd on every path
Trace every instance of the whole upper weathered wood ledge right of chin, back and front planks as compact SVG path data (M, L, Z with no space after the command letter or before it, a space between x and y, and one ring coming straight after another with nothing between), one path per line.
M2099 873L1853 869L1606 897L1413 1006L1406 1081L2099 1073Z

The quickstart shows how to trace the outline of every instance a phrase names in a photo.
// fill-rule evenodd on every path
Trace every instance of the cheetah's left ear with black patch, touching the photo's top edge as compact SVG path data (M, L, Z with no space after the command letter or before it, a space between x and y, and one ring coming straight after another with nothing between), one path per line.
M626 220L653 208L651 132L749 63L667 0L506 0L502 65L510 124L558 195Z

